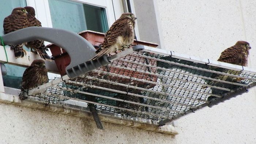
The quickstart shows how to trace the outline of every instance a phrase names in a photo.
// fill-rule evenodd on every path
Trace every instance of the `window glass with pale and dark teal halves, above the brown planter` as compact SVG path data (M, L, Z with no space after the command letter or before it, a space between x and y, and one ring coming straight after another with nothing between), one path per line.
M70 0L49 0L49 7L54 28L73 32L108 30L105 8Z

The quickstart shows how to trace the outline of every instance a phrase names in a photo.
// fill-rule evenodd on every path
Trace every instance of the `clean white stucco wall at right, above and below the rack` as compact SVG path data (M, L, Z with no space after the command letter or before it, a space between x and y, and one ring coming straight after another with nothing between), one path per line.
M165 49L217 60L238 40L256 69L255 0L158 0ZM177 143L256 143L256 89L176 120Z

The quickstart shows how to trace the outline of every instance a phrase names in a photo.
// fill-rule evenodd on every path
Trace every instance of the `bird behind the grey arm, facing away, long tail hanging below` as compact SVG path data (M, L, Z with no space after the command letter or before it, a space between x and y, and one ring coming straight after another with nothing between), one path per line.
M28 12L27 19L29 27L42 27L41 22L35 17L35 9L33 7L24 7ZM30 47L32 52L39 53L41 58L51 61L49 55L46 53L47 47L42 40L34 40L28 42L26 47Z

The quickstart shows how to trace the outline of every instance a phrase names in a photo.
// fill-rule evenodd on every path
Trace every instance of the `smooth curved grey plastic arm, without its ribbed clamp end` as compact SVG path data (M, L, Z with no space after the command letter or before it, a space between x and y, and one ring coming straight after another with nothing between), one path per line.
M63 48L71 58L71 63L66 67L66 72L70 78L74 77L74 74L69 73L72 69L75 69L74 67L83 64L95 55L95 48L90 42L74 32L62 29L28 27L3 35L2 38L6 45L19 44L39 39L54 43ZM101 62L98 64L100 63Z

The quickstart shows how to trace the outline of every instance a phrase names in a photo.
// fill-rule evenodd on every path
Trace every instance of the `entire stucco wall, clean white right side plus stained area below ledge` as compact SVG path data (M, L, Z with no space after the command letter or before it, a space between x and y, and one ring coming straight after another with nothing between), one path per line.
M252 46L249 67L256 67L255 0L157 0L157 4L165 49L217 59L237 40L247 40ZM0 103L0 143L255 143L255 109L252 89L175 121L179 135L173 138L109 123L103 123L102 131L92 120Z

